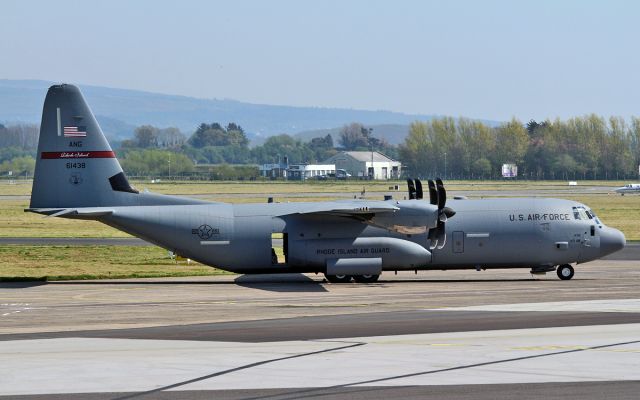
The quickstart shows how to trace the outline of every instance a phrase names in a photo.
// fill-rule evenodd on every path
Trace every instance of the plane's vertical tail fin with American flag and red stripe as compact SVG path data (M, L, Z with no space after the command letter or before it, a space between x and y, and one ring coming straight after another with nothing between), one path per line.
M42 110L30 208L125 205L135 194L80 90L51 86Z

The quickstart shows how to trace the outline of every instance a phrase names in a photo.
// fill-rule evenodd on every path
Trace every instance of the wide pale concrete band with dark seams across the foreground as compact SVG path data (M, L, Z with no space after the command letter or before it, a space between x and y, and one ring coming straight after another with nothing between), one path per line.
M357 342L367 344L205 378ZM275 343L16 340L0 342L0 395L149 391L166 386L213 390L621 381L640 380L638 365L640 324ZM180 384L187 381L192 383Z

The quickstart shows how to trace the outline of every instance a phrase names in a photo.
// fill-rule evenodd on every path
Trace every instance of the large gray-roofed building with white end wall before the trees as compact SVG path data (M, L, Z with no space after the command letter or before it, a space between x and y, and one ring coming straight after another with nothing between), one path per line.
M354 177L372 179L400 178L402 164L377 151L342 151L324 161L335 164L336 169L344 169Z

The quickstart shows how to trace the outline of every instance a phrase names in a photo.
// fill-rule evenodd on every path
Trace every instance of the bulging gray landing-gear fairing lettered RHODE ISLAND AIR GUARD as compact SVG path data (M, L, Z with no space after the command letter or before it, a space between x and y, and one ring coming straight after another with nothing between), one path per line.
M415 269L431 263L431 252L417 243L388 237L307 239L289 242L290 267L325 271L338 259L381 259L382 269Z

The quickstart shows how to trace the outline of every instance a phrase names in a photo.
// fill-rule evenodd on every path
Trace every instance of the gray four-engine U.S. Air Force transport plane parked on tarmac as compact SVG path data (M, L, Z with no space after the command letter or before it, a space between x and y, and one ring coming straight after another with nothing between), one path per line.
M26 211L97 220L183 257L242 274L315 272L374 282L382 271L557 269L620 250L624 235L584 204L541 198L454 199L439 179L409 180L408 200L227 204L131 187L82 94L45 99ZM445 229L446 227L446 229ZM273 233L282 233L278 262Z

